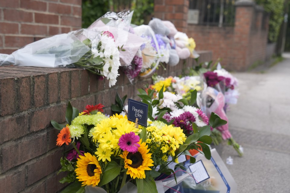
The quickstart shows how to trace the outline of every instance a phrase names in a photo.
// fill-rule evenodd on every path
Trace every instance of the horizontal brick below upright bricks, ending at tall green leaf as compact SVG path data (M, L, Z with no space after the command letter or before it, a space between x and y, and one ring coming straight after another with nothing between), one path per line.
M58 123L65 122L65 112L66 105L57 105L35 111L31 116L30 131L38 131L51 126L51 120Z

